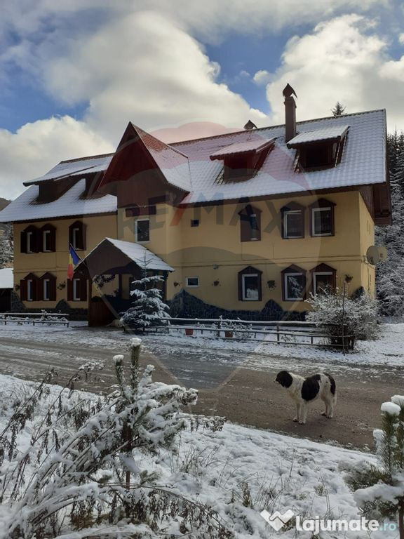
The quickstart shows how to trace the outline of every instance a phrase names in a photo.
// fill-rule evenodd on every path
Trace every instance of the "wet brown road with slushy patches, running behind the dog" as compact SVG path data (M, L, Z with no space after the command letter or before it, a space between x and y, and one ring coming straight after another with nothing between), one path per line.
M118 351L121 353L121 350ZM115 383L112 356L116 347L83 345L82 342L41 342L23 338L0 337L0 373L26 380L40 380L50 366L58 371L62 383L86 361L103 361L99 380L79 382L91 392L105 392ZM223 352L224 354L224 352ZM232 352L234 354L234 352ZM295 407L283 388L274 382L278 371L288 368L290 360L268 356L265 367L253 368L254 353L243 366L215 361L217 352L173 347L158 357L142 352L141 363L156 366L156 380L181 383L199 390L194 411L207 415L226 415L233 422L253 425L316 441L336 441L344 446L371 448L372 430L378 427L380 404L393 394L403 393L404 376L398 367L354 368L339 366L337 371L337 414L332 420L320 415L321 402L309 408L307 425L292 422ZM332 367L328 369L332 373ZM300 373L317 371L316 365L302 365Z

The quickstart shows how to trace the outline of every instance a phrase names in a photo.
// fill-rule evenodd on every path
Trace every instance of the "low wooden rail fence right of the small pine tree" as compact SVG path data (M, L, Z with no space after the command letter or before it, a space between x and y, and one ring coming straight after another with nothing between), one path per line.
M327 326L331 331L327 331ZM249 321L230 319L173 318L161 321L159 326L147 328L147 332L184 333L200 337L216 337L233 340L257 340L277 344L324 346L352 350L353 335L346 328L326 324L318 327L305 321Z

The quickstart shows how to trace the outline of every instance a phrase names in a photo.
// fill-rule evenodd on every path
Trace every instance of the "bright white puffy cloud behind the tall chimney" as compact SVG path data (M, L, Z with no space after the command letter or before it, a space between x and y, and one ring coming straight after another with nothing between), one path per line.
M293 37L267 86L272 120L283 122L279 95L289 82L298 95L299 120L330 116L339 101L346 112L386 108L389 128L404 128L404 58L391 60L386 51L372 21L358 15L322 22L311 34Z

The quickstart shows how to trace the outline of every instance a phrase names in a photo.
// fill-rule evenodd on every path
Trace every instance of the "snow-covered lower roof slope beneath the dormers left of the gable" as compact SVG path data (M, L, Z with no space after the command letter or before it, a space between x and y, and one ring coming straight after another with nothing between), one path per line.
M38 204L38 185L31 185L4 210L0 211L0 222L33 221L67 217L68 215L93 215L116 212L116 197L107 194L104 197L82 198L86 180L79 180L59 199Z

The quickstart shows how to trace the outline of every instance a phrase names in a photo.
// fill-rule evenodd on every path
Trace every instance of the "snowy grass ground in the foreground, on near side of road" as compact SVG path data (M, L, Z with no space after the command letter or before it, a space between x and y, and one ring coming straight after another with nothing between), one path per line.
M28 394L33 382L0 375L0 432L11 413L13 396ZM52 386L52 392L58 387ZM29 441L29 425L25 441ZM354 498L344 483L344 470L363 460L373 461L367 453L294 439L227 423L222 432L183 432L177 441L177 453L162 452L157 458L144 456L141 469L157 470L160 481L173 486L187 498L213 505L226 521L236 539L295 538L295 528L274 531L260 517L292 510L305 518L358 519ZM0 509L7 518L6 504ZM0 532L1 537L1 532ZM311 539L311 532L300 532ZM321 539L359 539L367 533L325 532ZM397 538L397 532L377 531L372 539Z

